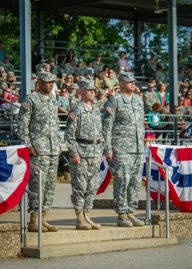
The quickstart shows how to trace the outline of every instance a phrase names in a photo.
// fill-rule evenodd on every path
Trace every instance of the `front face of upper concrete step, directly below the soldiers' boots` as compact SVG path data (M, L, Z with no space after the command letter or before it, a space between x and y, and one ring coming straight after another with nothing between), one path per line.
M74 243L89 243L110 240L128 240L159 237L159 225L145 225L131 228L101 228L100 230L71 230L42 233L42 246ZM22 237L25 247L38 246L38 233L28 232Z

